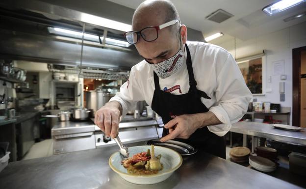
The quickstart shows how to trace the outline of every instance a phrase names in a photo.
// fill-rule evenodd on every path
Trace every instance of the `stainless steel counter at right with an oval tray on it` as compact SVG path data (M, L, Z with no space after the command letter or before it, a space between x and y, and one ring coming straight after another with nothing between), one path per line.
M273 128L270 124L241 121L232 124L230 132L240 133L244 135L252 135L264 138L270 138L280 142L305 145L306 131L292 132Z

